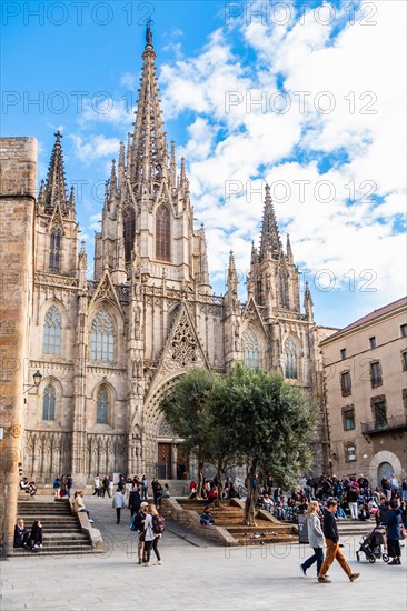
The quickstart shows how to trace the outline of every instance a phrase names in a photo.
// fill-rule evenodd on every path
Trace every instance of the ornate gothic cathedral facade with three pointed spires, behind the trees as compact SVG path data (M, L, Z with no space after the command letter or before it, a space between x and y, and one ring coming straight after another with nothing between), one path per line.
M242 360L277 370L322 404L321 329L308 286L301 313L298 268L268 188L247 302L238 299L232 252L226 293L212 293L185 160L177 166L173 142L168 150L155 58L148 29L133 133L106 183L93 280L83 242L78 250L59 132L37 199L26 381L36 370L42 380L26 395L23 472L39 482L62 473L76 485L96 473L193 477L193 460L160 412L167 390L193 365L227 372ZM322 429L315 449L322 468Z

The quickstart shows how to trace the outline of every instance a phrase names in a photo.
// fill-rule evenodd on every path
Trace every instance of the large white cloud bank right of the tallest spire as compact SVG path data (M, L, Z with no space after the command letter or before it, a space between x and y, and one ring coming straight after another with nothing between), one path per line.
M337 22L321 26L310 10L294 27L252 20L229 31L230 38L217 30L199 56L162 68L166 114L195 113L183 151L195 213L207 228L212 279L224 278L230 248L247 268L260 228L262 198L255 193L248 204L240 192L225 202L225 184L249 180L256 189L267 179L291 188L289 200L275 207L297 261L314 273L330 269L341 291L349 273L355 290L369 287L366 270L373 270L377 291L360 296L373 307L405 292L405 237L394 227L405 214L406 4L389 1L377 9L376 26L358 19L350 24L345 8L337 10L344 28L334 38ZM232 51L235 36L246 41L250 63ZM281 78L291 101L286 113L270 110ZM310 92L304 111L295 92ZM235 100L229 112L226 96ZM266 108L252 103L264 98ZM330 156L332 167L319 169ZM298 180L310 182L302 202ZM335 189L331 202L317 197L322 180ZM369 201L364 196L370 190Z

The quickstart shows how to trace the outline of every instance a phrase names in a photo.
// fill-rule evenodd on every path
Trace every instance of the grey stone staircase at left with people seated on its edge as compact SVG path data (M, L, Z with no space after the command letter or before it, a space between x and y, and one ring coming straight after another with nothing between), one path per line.
M64 499L52 501L36 498L18 502L18 518L22 518L30 532L34 520L41 520L43 548L38 553L27 549L10 550L11 555L66 555L92 553L95 550L88 534L81 530L79 519Z

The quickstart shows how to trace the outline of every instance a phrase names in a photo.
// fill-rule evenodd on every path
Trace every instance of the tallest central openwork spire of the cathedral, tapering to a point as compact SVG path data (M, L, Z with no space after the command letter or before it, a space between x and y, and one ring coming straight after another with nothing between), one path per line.
M168 158L158 97L151 20L147 23L146 42L130 154L130 177L133 184L159 182L167 170Z

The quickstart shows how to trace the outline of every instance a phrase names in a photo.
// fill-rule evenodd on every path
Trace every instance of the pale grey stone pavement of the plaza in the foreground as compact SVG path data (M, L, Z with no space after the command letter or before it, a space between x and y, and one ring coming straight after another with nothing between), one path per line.
M336 611L406 609L406 548L401 567L383 561L358 563L358 539L344 552L361 577L350 583L336 563L331 584L304 578L300 561L309 548L275 544L221 548L168 524L160 542L162 567L140 567L137 539L128 529L129 511L120 524L108 498L86 498L96 527L107 543L103 553L83 557L11 558L0 562L1 610L285 610ZM171 532L172 531L172 532ZM178 532L178 534L176 534ZM179 537L182 532L188 540Z

